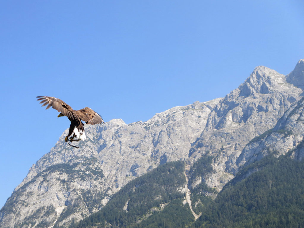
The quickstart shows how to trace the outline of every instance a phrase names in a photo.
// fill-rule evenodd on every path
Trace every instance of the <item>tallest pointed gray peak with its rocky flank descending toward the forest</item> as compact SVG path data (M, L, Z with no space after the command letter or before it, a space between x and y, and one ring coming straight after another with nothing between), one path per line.
M296 70L302 62L299 61ZM195 157L208 150L218 157L213 164L216 172L206 179L209 186L221 190L239 170L241 164L236 160L247 143L272 129L289 107L301 98L302 89L288 82L289 75L256 67L243 84L226 95L210 112L206 127L191 152L191 157Z

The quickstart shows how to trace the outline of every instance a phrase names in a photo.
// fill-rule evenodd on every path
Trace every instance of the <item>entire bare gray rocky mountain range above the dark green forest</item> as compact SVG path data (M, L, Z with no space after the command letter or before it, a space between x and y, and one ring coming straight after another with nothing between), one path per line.
M101 210L130 181L173 161L185 163L185 181L176 188L198 218L203 199L193 192L215 197L242 168L273 151L304 156L303 72L304 60L286 76L256 67L225 98L174 107L146 122L85 126L79 149L64 142L66 130L15 188L0 210L0 226L67 227Z

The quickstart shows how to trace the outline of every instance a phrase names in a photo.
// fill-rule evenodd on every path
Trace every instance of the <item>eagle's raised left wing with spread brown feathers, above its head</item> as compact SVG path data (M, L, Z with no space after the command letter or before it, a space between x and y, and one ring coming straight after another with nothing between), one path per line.
M69 119L72 119L75 122L80 122L80 119L75 113L75 110L73 110L71 106L65 103L64 101L55 97L38 96L37 98L37 101L42 100L40 104L44 103L42 106L47 105L46 109L49 109L52 106L53 109L56 109L58 112L61 112Z

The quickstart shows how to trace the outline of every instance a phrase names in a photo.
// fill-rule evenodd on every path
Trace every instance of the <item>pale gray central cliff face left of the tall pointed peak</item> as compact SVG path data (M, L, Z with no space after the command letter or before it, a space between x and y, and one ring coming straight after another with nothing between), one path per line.
M107 123L98 138L97 158L106 185L111 188L110 194L159 164L187 159L191 144L200 136L209 112L218 101L174 107L157 113L147 122ZM122 125L113 129L108 127L112 122Z

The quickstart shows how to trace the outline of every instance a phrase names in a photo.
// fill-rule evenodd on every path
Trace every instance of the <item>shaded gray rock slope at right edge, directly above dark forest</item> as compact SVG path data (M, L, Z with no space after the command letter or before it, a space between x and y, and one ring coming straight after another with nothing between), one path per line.
M280 156L291 152L295 159L302 160L304 157L303 111L304 98L292 105L273 129L251 140L238 157L237 165L247 166L270 153Z

